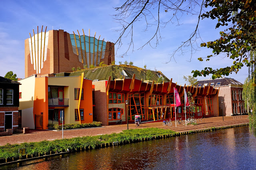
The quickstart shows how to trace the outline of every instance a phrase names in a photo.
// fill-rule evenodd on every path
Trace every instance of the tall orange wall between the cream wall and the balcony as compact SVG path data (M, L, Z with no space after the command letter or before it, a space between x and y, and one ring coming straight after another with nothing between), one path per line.
M43 113L43 129L48 129L48 77L36 77L34 94L34 118Z

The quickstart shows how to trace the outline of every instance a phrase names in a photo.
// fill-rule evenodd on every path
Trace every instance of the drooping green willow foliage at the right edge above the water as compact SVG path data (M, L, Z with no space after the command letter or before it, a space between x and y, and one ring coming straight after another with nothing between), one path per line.
M252 52L250 60L256 60L256 52ZM242 97L244 100L244 109L250 109L249 124L250 130L252 130L254 136L256 136L256 69L255 64L250 65L249 76L245 79L242 91Z

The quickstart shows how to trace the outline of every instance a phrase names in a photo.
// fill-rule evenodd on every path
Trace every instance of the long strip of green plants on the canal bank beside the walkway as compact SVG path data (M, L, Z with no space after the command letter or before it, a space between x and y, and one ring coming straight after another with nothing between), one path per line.
M160 128L141 128L141 129L130 129L123 130L121 133L104 134L97 136L84 136L69 138L63 140L53 140L53 141L41 141L41 142L30 142L22 144L6 144L5 146L0 146L0 159L2 158L18 158L21 156L19 148L26 148L26 153L28 155L38 156L40 154L47 154L50 151L62 152L63 150L75 150L80 147L92 147L96 148L99 144L104 144L108 142L124 142L130 140L137 140L142 138L152 138L153 136L162 136L167 134L176 134L172 130L160 129Z

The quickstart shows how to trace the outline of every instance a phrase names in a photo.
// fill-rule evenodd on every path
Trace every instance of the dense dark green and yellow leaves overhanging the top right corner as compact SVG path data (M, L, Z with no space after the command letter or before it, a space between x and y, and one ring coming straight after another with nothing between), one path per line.
M226 53L232 59L231 67L220 69L204 68L202 71L192 71L194 77L197 75L213 74L212 78L237 73L241 67L249 67L254 60L248 60L250 51L256 49L256 4L252 0L206 0L204 6L210 8L209 12L202 14L202 18L212 20L218 18L216 28L224 26L220 32L220 38L215 41L201 43L202 47L211 48L214 55ZM235 14L235 15L234 15ZM213 55L208 55L206 61ZM200 57L198 60L202 61Z

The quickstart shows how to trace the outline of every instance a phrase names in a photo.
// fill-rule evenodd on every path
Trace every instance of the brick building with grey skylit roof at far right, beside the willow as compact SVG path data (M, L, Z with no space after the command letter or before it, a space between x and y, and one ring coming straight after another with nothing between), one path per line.
M198 87L207 85L219 89L219 116L222 116L222 106L224 116L247 114L247 109L244 108L244 101L242 99L242 83L226 77L198 81Z

